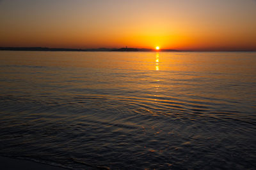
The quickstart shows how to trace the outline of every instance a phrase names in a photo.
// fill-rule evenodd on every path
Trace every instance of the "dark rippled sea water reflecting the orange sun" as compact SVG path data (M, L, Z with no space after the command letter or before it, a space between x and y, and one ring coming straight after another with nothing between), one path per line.
M0 52L0 155L255 169L256 53Z

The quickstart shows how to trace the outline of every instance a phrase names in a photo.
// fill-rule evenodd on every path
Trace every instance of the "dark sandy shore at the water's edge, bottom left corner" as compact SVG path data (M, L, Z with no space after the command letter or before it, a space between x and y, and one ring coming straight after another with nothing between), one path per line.
M12 159L8 157L0 157L1 169L3 170L67 170L62 167L49 166L46 164L40 164L29 160Z

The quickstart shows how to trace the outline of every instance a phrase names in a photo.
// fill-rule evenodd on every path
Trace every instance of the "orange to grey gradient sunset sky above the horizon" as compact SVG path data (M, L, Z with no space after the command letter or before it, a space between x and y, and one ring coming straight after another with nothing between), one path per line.
M256 50L255 0L0 0L0 46Z

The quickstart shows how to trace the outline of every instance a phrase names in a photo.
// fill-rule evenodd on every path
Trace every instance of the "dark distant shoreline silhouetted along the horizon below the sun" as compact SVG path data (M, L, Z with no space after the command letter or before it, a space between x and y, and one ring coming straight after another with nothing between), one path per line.
M47 48L47 47L0 47L1 51L33 52L256 52L256 50L173 50L152 48Z

